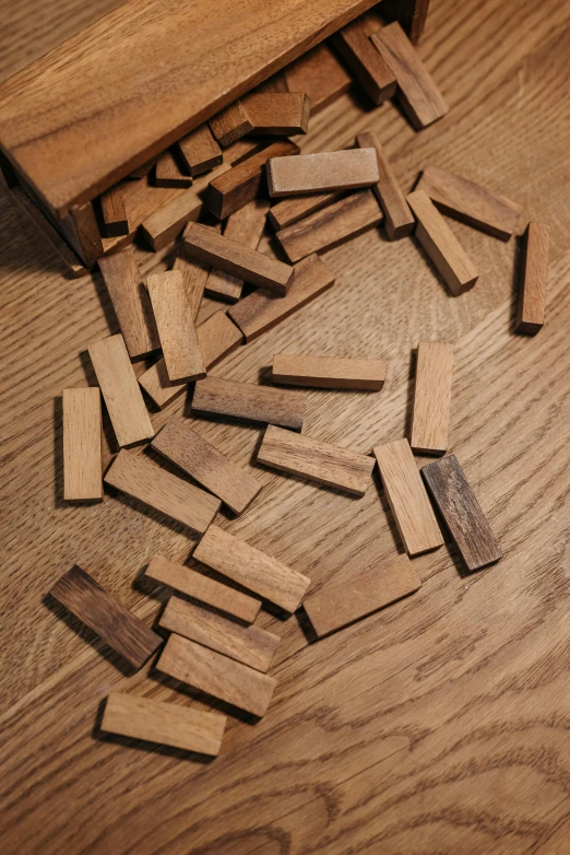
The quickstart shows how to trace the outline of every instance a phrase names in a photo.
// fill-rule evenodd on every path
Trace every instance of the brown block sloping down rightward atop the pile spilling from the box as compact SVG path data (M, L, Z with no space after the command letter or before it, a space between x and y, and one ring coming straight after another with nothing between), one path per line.
M283 261L250 249L200 223L192 223L186 230L185 250L199 261L280 296L287 293L293 277L293 268Z

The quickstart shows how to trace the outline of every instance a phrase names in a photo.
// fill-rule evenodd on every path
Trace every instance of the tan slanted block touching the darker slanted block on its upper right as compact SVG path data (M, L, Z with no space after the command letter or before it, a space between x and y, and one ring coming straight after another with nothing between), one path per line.
M182 481L144 455L119 452L105 483L203 534L219 511L219 499Z

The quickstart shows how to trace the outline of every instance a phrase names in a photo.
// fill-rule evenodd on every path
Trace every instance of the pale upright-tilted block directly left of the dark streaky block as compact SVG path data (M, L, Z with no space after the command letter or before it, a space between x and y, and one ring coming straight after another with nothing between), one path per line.
M414 455L407 440L372 449L384 493L408 555L419 555L443 543Z

